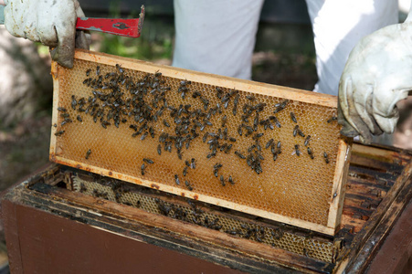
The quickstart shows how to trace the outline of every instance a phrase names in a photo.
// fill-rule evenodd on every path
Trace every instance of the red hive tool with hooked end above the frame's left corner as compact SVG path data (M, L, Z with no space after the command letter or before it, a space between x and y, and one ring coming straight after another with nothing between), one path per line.
M78 17L77 29L100 31L121 37L140 37L144 20L144 5L142 5L139 18L89 18Z

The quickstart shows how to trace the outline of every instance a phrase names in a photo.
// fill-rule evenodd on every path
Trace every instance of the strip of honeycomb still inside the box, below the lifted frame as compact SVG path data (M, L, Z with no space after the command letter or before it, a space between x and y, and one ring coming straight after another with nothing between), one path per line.
M84 195L92 195L123 205L130 205L146 212L169 216L198 226L225 232L234 237L248 238L262 244L282 248L309 258L326 262L333 261L333 241L323 238L301 236L281 227L259 226L252 222L216 215L194 203L187 205L173 204L157 197L144 195L138 190L121 190L120 182L109 184L104 180L88 181L78 176L73 177L73 190Z

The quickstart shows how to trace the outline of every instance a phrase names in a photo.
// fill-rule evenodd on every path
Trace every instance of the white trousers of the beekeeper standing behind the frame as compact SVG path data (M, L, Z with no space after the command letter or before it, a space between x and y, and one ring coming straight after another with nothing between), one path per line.
M314 90L337 95L354 45L397 23L396 0L306 0L319 81ZM174 0L173 66L251 78L251 59L263 0Z

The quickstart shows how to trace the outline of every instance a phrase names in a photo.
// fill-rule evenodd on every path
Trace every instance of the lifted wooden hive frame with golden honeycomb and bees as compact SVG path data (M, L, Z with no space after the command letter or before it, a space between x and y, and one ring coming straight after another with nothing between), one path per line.
M324 234L339 226L350 145L335 97L84 50L52 75L52 161Z

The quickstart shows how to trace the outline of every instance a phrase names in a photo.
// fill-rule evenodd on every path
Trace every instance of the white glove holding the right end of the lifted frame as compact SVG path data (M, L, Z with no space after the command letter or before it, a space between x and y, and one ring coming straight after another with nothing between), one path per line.
M396 102L412 90L412 22L386 26L364 37L353 49L339 83L338 119L343 135L392 133Z

